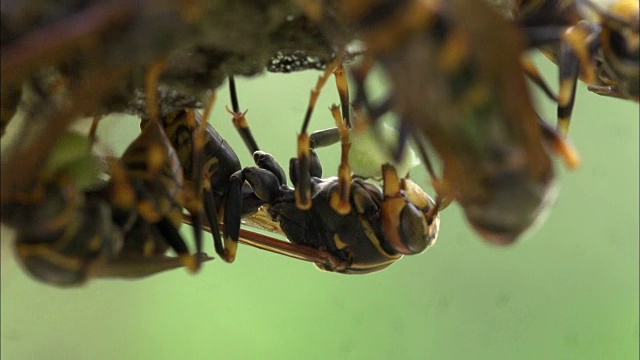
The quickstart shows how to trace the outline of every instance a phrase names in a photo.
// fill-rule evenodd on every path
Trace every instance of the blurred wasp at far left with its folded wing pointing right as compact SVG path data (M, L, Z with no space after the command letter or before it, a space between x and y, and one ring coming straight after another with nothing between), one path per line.
M89 145L85 136L65 133L33 191L3 194L2 211L16 229L22 267L45 283L77 286L91 278L141 278L183 266L176 258L144 253L143 239L131 236L139 222L118 215L133 194L131 184L115 169L109 185L101 181Z

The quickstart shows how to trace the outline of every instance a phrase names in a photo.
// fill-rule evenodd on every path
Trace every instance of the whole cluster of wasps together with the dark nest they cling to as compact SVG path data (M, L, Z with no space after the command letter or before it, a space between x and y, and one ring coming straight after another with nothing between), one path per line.
M23 117L20 141L2 154L1 220L16 231L23 267L60 286L196 272L212 259L203 230L227 262L243 242L328 271L373 272L432 246L454 201L480 236L511 244L555 200L553 156L578 166L566 140L577 79L638 101L636 0L5 1L1 10L2 133ZM558 95L526 58L532 48L558 64ZM289 186L250 131L234 76L306 69L323 73ZM388 79L382 100L369 91L374 70ZM336 126L309 135L332 76ZM533 106L525 76L557 102L557 128ZM255 166L207 121L225 80ZM140 116L140 135L120 157L98 154L100 119L122 112ZM397 118L392 146L380 130L387 114ZM69 130L86 116L88 136ZM435 200L391 163L352 170L360 128L395 160L414 146ZM314 149L337 143L340 167L323 178Z

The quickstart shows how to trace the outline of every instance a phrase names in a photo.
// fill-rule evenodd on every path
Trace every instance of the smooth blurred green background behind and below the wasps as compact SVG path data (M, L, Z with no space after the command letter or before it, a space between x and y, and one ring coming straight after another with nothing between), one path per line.
M538 60L555 84L556 68ZM259 144L283 164L318 74L238 80ZM234 264L216 259L197 276L58 289L22 272L3 229L2 358L636 359L638 106L579 86L570 135L583 165L556 162L559 199L514 246L483 242L453 205L437 246L371 275L241 246ZM250 165L224 109L226 86L218 95L210 121ZM337 101L331 80L314 129L332 125L326 109ZM539 105L554 119L553 104ZM138 131L135 118L110 118L99 135L121 152ZM338 149L319 154L333 174Z

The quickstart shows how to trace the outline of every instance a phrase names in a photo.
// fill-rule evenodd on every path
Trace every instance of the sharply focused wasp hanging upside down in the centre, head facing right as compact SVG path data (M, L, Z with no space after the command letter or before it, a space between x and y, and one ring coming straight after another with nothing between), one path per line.
M313 262L323 270L364 274L432 246L440 219L433 200L411 180L399 178L391 165L382 166L382 190L352 177L348 164L349 132L342 117L347 111L341 114L338 106L332 108L337 132L307 135L318 93L332 70L327 68L312 91L298 142L299 157L291 159L289 166L294 188L287 185L285 171L277 161L260 150L253 153L256 166L245 167L231 176L227 202L239 204L242 213L256 213L245 222L272 232L281 231L290 243L241 229L243 219L225 211L225 244L240 241ZM346 85L344 76L338 83ZM339 92L341 99L348 99L340 86ZM231 88L231 96L235 120L246 124L245 113L236 108L235 87ZM342 105L343 109L345 105L348 108L348 100ZM322 166L311 144L317 147L334 143L336 133L342 144L339 175L322 178ZM247 184L250 191L246 191Z

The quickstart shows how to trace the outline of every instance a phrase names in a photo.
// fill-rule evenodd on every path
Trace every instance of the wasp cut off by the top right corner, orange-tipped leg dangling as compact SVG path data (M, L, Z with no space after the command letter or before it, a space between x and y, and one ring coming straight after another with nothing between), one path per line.
M580 78L604 96L640 99L637 0L520 1L513 11L529 45L558 64L558 129L566 135Z

